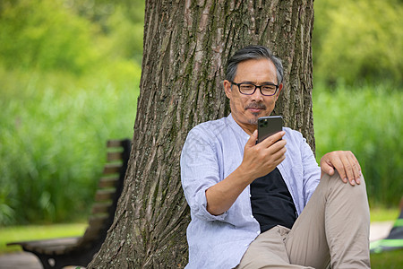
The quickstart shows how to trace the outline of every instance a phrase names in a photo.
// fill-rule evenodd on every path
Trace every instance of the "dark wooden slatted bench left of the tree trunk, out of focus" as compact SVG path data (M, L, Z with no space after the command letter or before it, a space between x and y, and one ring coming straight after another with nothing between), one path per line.
M35 254L45 269L67 265L87 266L99 251L114 221L130 150L131 142L128 139L107 142L107 164L99 179L89 226L82 237L13 242L7 246L20 245L24 251Z

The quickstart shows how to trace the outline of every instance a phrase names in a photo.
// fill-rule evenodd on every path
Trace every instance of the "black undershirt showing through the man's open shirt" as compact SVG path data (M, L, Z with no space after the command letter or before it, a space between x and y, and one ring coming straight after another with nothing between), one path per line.
M252 182L251 204L261 232L276 225L291 229L296 221L296 206L278 168Z

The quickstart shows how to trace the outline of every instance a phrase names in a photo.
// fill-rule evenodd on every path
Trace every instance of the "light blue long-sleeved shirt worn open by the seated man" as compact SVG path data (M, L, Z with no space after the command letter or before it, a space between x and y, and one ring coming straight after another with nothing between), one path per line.
M319 184L321 169L302 134L287 127L284 131L286 159L278 168L300 214ZM181 155L182 186L192 217L186 268L234 268L261 232L249 186L226 213L207 211L206 190L241 164L249 137L231 115L195 126L187 135Z

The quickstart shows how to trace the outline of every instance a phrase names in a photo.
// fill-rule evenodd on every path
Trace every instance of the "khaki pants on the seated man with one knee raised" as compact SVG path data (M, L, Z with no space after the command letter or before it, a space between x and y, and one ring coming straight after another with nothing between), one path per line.
M369 207L364 178L345 184L325 175L291 230L259 235L236 269L370 268Z

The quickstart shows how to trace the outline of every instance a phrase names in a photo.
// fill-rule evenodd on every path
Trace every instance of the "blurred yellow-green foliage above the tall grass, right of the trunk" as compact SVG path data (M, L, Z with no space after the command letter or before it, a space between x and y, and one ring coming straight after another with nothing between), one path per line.
M315 80L403 83L403 4L398 0L317 1Z

